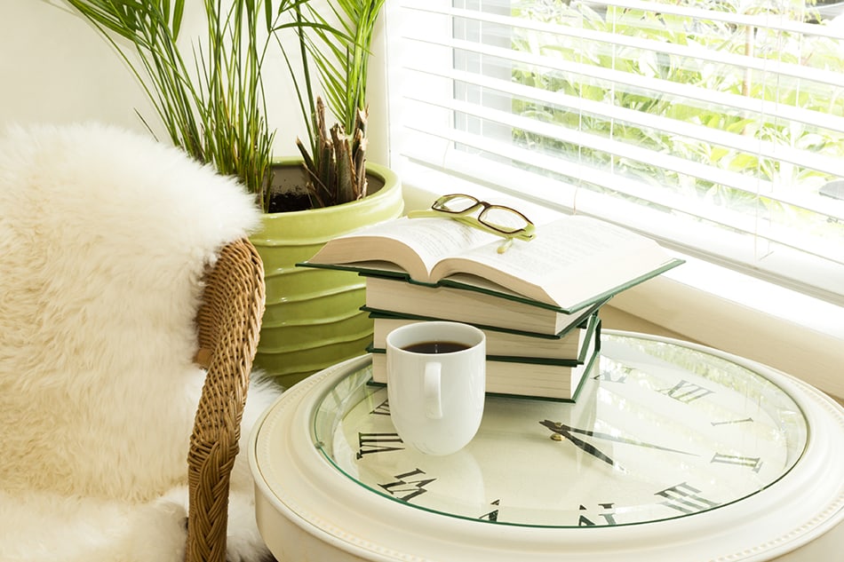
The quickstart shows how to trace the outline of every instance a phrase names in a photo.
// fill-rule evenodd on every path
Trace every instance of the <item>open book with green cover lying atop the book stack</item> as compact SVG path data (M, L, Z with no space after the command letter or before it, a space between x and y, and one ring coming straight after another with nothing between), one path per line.
M449 218L397 218L326 243L304 264L473 289L573 313L663 273L674 259L656 241L595 218L537 226L532 241L502 238Z

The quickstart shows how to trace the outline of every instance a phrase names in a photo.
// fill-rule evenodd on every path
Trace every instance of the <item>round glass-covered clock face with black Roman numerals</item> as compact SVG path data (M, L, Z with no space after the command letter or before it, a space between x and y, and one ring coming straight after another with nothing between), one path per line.
M800 459L806 418L767 378L655 340L605 336L601 345L576 403L488 396L481 429L454 455L402 443L369 367L322 397L315 443L373 494L511 526L632 525L717 510Z

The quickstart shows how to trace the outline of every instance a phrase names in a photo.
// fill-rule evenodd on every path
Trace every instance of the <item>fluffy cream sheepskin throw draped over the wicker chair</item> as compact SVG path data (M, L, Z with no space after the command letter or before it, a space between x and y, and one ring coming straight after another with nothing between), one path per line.
M201 280L258 223L235 180L147 136L0 138L0 560L184 559ZM275 396L252 389L244 439ZM267 556L245 463L233 561Z

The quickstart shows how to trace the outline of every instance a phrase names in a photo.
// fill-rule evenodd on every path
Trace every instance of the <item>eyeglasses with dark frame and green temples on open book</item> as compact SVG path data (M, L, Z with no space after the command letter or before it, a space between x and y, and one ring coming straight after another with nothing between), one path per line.
M477 217L470 216L480 208ZM498 234L506 239L498 247L503 254L513 245L514 239L530 241L536 236L536 226L521 212L504 205L475 199L472 195L449 194L437 199L429 210L411 210L409 218L451 218L466 226L479 228L491 234Z

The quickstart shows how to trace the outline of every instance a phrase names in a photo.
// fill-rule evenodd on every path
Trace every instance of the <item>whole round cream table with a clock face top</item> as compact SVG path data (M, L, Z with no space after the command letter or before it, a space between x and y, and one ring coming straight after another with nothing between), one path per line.
M612 330L601 340L576 403L488 396L454 455L402 443L368 356L297 384L251 435L267 546L283 562L844 551L844 408L710 348Z

